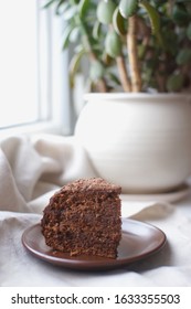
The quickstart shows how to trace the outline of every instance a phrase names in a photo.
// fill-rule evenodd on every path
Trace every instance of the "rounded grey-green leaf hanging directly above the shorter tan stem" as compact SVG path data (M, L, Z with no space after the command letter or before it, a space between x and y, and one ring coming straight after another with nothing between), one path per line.
M114 31L109 31L105 41L106 53L112 57L121 55L121 41L119 35Z

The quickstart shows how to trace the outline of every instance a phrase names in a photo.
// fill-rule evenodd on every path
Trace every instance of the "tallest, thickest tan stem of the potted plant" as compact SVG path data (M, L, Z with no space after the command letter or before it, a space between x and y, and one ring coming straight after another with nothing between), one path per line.
M129 18L129 29L127 34L127 50L129 57L129 66L131 73L132 92L138 93L141 90L141 76L137 52L137 19L136 15Z

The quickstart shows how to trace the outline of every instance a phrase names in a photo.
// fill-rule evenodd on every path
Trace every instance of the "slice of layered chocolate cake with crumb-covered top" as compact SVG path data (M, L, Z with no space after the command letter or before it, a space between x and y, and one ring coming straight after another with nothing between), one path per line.
M45 243L75 255L117 257L121 237L120 187L100 178L64 185L44 209L41 221Z

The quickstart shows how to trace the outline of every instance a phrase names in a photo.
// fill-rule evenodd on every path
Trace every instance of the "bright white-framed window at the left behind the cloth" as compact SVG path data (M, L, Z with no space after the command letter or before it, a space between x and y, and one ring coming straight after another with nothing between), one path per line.
M22 126L70 134L67 53L61 20L43 1L0 3L0 130Z

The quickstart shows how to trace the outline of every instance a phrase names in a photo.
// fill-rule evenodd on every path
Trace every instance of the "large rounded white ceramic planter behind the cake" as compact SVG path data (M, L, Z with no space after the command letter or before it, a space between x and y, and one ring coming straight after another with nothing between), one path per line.
M87 94L75 128L102 178L124 192L167 192L191 174L189 95Z

